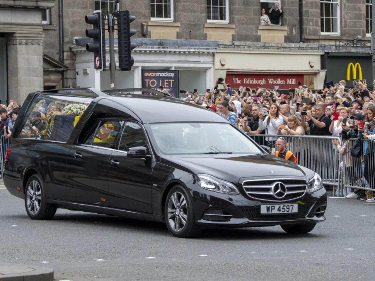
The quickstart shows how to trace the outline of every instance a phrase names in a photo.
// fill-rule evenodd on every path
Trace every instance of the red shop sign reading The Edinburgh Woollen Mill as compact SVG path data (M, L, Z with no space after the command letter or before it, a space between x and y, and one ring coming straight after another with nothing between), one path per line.
M225 82L231 84L231 88L273 88L279 86L280 89L297 88L298 82L307 85L306 80L311 77L308 73L253 73L253 72L227 72ZM312 83L314 84L314 81Z

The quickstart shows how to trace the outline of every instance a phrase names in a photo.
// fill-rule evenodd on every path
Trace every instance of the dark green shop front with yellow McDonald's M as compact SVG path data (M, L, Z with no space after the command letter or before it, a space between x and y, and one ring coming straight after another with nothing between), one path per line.
M323 67L327 69L326 82L345 80L347 87L353 87L353 80L366 80L368 87L373 87L369 53L330 52L323 56Z

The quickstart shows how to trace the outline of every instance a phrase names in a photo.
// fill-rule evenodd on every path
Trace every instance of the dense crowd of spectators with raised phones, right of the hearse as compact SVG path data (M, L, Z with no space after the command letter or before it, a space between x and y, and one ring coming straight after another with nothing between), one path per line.
M277 88L277 87L275 87ZM290 89L281 94L276 89L240 87L230 88L223 79L216 79L215 87L202 96L197 92L186 94L186 100L216 112L229 123L248 135L255 137L260 145L276 148L275 135L336 136L333 141L337 155L344 154L348 175L353 172L350 155L350 138L375 139L375 93L368 90L366 81L355 81L354 88L347 88L346 81L327 85L322 91L313 93L306 86ZM267 136L269 135L269 136ZM361 156L362 172L366 187L374 184L374 151L368 142L363 142ZM294 160L293 157L289 157ZM353 181L354 179L350 179ZM371 191L348 189L348 198L359 198L375 202Z

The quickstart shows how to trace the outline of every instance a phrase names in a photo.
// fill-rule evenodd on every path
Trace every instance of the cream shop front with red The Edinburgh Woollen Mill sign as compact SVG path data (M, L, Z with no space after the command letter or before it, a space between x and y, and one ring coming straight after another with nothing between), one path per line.
M272 43L219 44L214 56L215 77L223 78L231 88L322 89L326 70L321 68L320 51L315 44L296 43L275 46Z

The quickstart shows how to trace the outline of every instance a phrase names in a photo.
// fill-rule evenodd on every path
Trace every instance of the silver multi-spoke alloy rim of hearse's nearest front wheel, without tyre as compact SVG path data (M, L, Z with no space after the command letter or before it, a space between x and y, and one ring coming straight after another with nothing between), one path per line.
M169 197L168 201L168 223L175 231L184 229L187 221L187 204L184 195L178 191Z

